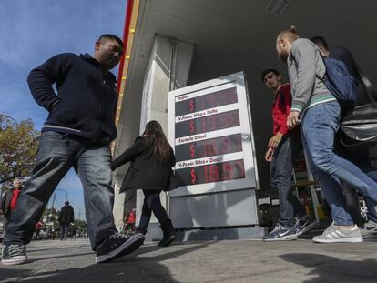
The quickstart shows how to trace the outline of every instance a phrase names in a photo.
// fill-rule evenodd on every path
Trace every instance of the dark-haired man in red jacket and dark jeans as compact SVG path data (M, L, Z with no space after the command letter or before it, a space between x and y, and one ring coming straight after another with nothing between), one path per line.
M316 221L306 214L305 208L297 197L293 196L291 187L293 165L302 145L299 130L291 131L287 126L292 101L290 84L283 84L280 73L275 69L263 71L261 79L275 96L272 104L273 136L270 138L265 159L271 163L270 187L278 191L280 204L279 221L263 240L297 239L315 227Z

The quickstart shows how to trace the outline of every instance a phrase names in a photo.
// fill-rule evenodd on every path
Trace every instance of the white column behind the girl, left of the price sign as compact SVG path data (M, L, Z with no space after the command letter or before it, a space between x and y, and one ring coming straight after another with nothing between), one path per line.
M156 35L144 77L140 134L150 120L157 120L168 136L168 92L186 86L194 45ZM137 222L143 205L143 193L137 192ZM161 203L167 207L167 197L161 193ZM152 217L151 223L157 222Z

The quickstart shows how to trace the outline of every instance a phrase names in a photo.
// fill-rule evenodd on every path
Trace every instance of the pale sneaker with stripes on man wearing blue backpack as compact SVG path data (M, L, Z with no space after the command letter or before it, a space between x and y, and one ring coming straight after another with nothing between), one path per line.
M362 242L362 233L357 225L352 228L343 228L331 223L322 235L316 236L312 240L316 243L360 243Z

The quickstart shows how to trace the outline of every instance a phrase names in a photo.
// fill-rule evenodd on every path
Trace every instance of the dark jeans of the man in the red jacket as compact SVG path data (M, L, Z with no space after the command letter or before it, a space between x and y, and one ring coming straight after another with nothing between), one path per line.
M292 227L296 223L294 215L301 218L306 215L292 190L292 169L301 150L300 136L284 136L276 147L270 164L270 187L278 191L279 223Z

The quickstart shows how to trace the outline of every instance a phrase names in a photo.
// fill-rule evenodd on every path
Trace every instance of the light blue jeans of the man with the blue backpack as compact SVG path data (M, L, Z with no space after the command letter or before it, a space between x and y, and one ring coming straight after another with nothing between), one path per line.
M301 137L312 174L320 181L321 191L331 207L334 224L349 226L353 225L353 221L346 207L341 183L354 187L374 202L377 202L377 183L352 162L333 153L340 118L341 107L336 101L312 106L302 117Z

